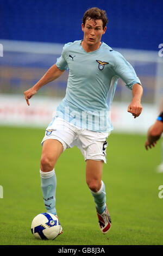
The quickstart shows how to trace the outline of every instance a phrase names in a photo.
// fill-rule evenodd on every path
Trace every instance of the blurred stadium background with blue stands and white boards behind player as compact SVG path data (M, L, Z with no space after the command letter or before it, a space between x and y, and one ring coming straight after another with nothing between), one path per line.
M1 0L0 124L47 126L65 96L68 72L42 88L30 107L23 92L56 62L66 42L83 39L83 14L95 6L108 15L103 41L133 65L144 90L142 115L133 121L127 113L131 92L118 80L112 104L115 131L147 131L163 93L162 0Z

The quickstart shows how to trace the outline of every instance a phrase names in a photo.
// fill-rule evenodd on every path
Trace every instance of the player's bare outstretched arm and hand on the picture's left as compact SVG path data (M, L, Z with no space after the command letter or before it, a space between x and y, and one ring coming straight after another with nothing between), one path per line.
M65 70L60 70L59 68L57 68L56 64L51 66L51 68L48 69L48 71L45 73L45 75L32 88L30 88L30 89L26 90L26 92L24 92L25 99L27 101L28 106L29 106L29 99L32 96L34 96L42 86L45 86L45 84L57 79L64 72L65 72Z

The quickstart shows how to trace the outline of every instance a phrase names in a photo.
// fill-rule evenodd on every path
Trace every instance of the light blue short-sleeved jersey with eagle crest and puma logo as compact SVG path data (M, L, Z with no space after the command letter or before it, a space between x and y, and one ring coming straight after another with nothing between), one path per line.
M104 42L93 52L86 52L81 42L66 44L57 59L57 67L70 72L66 95L56 116L81 129L109 132L113 129L110 107L118 78L122 78L129 89L141 83L127 60Z

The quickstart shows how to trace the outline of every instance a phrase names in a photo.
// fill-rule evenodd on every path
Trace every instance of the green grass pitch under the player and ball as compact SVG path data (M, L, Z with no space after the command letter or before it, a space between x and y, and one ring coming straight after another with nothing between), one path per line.
M0 132L0 245L163 245L163 198L158 197L163 173L155 171L161 140L146 151L146 136L109 136L103 181L112 227L106 235L98 227L83 156L77 148L66 150L55 166L64 234L42 241L34 238L30 224L46 211L39 173L44 130L2 126Z

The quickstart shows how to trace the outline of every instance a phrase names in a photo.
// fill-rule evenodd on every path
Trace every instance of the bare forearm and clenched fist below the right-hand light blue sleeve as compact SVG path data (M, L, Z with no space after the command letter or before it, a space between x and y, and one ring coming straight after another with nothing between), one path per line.
M128 106L128 112L130 112L134 118L139 117L142 112L141 98L143 94L143 88L140 84L135 83L132 89L133 99Z

